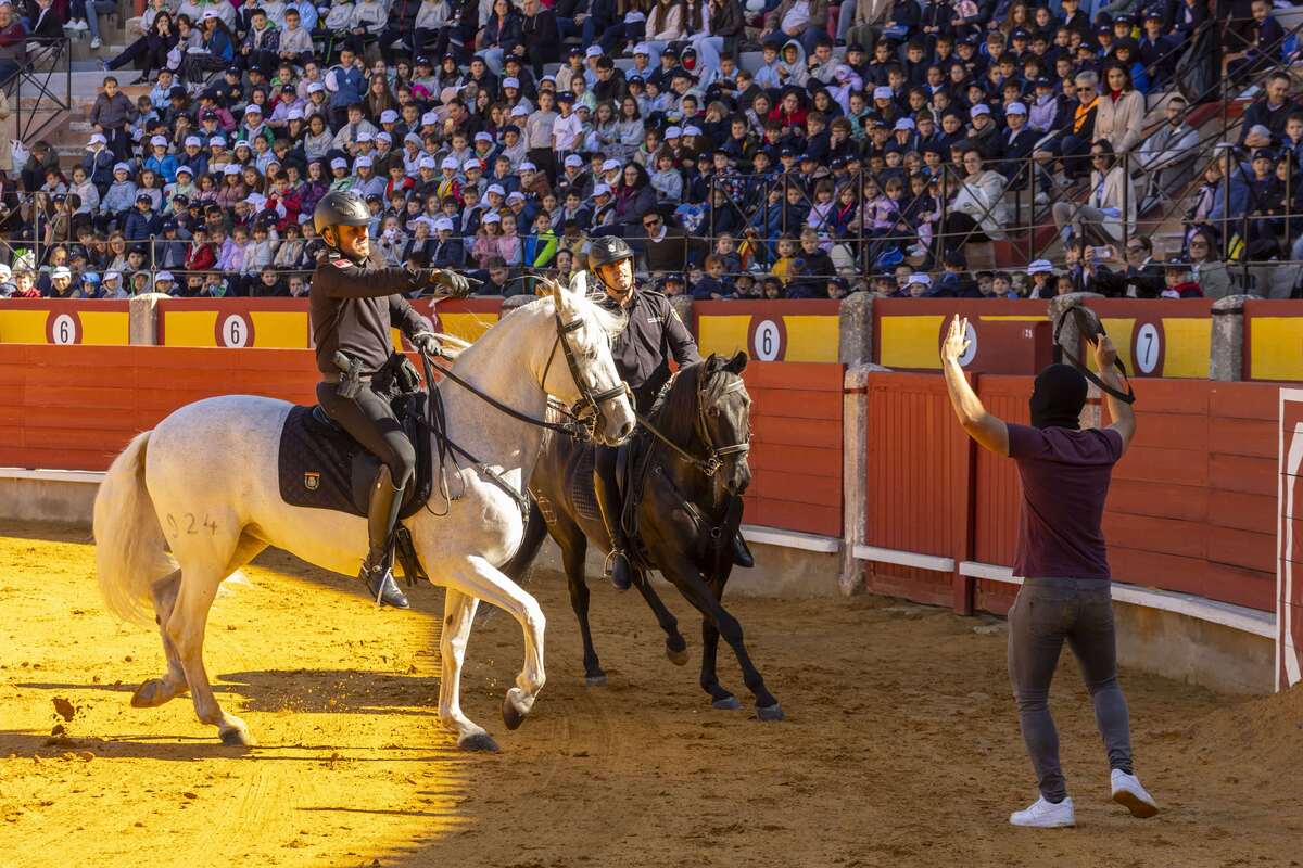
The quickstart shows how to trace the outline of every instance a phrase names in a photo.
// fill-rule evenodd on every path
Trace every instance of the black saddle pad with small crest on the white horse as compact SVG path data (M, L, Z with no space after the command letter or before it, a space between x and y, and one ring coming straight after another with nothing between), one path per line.
M400 396L394 413L416 449L416 479L403 493L401 518L430 497L433 481L430 432L423 424L426 396ZM296 406L280 431L278 457L280 498L291 506L332 509L366 515L370 487L380 462L318 406Z

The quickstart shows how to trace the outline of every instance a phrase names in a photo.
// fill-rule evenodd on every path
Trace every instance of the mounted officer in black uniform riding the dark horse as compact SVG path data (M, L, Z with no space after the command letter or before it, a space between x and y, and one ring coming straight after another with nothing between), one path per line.
M638 289L633 280L633 250L623 238L594 238L588 250L588 269L606 290L603 305L628 319L615 338L611 355L620 377L633 392L640 415L652 410L661 388L670 380L670 359L680 367L701 360L697 342L674 310L670 299L650 289ZM619 485L615 479L616 449L595 446L593 491L611 539L611 584L629 588L628 540L620 521ZM741 536L735 537L734 560L751 566L751 553Z

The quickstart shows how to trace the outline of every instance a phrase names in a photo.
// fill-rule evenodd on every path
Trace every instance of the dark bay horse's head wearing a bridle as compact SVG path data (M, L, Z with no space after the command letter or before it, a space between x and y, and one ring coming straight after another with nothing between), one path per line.
M751 396L741 380L747 354L715 355L681 368L653 423L698 465L715 467L714 479L734 495L751 485Z

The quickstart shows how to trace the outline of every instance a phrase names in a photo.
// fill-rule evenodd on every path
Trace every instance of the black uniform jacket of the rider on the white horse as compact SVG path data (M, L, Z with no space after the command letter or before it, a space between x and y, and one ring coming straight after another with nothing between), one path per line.
M421 289L422 281L405 268L394 268L373 251L356 264L331 252L318 262L309 295L317 370L339 373L336 350L362 362L373 375L394 353L390 327L408 337L426 331L425 321L400 293Z

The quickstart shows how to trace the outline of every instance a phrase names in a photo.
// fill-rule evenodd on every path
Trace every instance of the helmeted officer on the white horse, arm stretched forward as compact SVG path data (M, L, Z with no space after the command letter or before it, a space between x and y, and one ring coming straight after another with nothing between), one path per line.
M390 329L412 345L439 351L439 341L408 305L405 293L439 285L452 295L469 293L469 281L438 268L392 268L371 251L371 220L353 193L327 193L313 212L317 234L327 250L313 272L310 306L317 345L317 400L322 409L365 449L380 459L367 506L370 550L360 578L379 603L407 609L407 596L394 582L392 543L403 491L416 470L416 450L395 418L388 398L371 388L371 377L394 353Z

